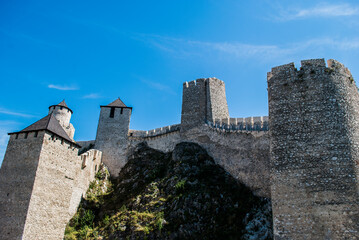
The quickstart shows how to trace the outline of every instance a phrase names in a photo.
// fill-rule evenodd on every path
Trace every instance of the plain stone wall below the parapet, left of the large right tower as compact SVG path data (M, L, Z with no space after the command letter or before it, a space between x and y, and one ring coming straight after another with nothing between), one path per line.
M202 124L181 132L181 139L200 144L216 163L255 194L270 197L268 132L218 131Z

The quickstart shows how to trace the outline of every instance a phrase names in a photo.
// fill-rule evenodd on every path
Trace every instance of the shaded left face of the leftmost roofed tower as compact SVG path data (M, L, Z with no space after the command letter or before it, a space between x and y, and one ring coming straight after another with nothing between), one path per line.
M10 135L0 169L0 236L1 239L21 239L44 131Z

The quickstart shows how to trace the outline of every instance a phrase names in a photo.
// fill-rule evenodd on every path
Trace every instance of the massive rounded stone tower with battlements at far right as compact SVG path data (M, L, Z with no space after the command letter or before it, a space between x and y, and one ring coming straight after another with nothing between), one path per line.
M275 239L359 236L359 94L335 60L268 73Z

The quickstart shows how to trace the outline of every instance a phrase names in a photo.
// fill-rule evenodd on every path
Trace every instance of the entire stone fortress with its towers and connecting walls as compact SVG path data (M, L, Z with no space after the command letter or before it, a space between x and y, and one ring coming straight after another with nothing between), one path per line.
M335 60L275 67L269 117L231 118L224 82L183 84L181 123L129 129L132 108L101 106L96 139L75 142L63 101L10 140L0 169L2 239L62 239L99 165L117 176L140 142L204 147L258 196L272 199L275 239L358 239L359 93Z

